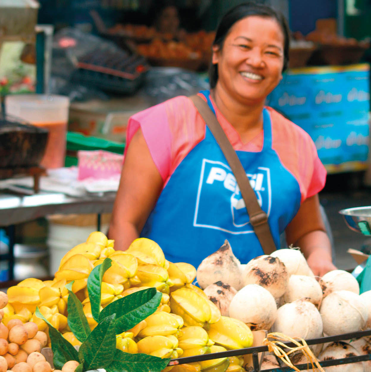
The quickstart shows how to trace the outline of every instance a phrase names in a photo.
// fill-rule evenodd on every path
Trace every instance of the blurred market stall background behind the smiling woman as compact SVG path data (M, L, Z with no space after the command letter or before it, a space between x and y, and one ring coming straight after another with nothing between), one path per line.
M347 250L371 243L338 212L371 204L371 1L257 2L291 31L290 68L267 104L313 138L334 259L352 270ZM66 251L105 232L129 117L207 89L214 30L239 3L0 0L1 281L53 275Z

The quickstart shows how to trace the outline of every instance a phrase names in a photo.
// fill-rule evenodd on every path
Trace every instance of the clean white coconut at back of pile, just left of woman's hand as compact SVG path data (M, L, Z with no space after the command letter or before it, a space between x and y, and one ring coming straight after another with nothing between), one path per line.
M314 276L310 270L307 260L300 252L299 248L277 249L270 254L272 257L278 257L285 265L288 276L290 275L307 275Z

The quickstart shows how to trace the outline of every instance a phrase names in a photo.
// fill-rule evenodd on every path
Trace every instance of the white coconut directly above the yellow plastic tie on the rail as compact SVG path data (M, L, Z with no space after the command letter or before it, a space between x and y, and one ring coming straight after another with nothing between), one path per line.
M277 310L272 332L288 337L316 339L322 336L322 318L312 302L299 299L281 306Z

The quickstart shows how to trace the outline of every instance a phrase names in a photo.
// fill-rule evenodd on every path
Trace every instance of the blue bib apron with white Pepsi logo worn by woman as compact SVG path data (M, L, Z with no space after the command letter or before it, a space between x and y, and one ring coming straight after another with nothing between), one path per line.
M215 113L210 92L201 93ZM299 183L272 149L267 109L263 116L262 150L236 152L279 248L280 234L296 215L301 194ZM205 138L181 161L162 190L141 237L156 241L167 260L188 262L196 268L225 239L241 263L264 254L236 179L207 125Z

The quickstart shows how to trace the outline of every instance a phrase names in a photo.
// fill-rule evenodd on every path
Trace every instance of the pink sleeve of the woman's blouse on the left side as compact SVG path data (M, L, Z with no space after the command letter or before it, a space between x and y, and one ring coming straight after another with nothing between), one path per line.
M133 115L128 122L125 154L135 132L141 128L149 152L163 180L170 172L171 134L165 105L153 106Z

